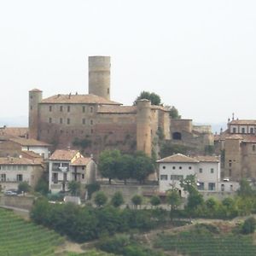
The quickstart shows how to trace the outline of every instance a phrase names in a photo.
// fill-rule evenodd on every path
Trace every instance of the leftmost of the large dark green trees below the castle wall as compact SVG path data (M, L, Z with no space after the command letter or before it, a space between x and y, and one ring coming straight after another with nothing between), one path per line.
M120 168L121 153L119 150L105 150L99 156L98 169L102 174L102 177L108 177L109 183L115 177Z

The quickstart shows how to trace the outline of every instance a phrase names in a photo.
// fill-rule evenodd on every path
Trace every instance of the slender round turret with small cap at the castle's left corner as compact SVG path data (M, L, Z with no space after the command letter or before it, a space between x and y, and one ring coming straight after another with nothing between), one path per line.
M28 93L29 110L28 110L28 127L29 138L38 139L38 103L42 101L42 90L33 89Z

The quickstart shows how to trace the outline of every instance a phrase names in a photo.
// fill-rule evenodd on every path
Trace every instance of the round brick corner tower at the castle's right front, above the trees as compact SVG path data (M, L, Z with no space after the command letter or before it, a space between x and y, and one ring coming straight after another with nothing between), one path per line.
M137 150L151 156L151 102L143 99L137 102Z

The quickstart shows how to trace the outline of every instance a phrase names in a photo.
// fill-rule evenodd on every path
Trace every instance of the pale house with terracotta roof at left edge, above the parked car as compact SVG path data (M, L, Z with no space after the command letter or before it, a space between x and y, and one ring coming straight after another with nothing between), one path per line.
M20 182L27 182L35 188L38 179L44 172L42 159L26 159L23 157L0 158L0 186L2 190L18 189Z

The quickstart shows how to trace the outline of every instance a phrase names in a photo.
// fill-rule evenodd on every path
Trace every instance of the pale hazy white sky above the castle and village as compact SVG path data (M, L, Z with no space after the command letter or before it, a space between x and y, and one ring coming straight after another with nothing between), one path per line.
M256 119L256 1L0 0L0 124L28 90L88 93L88 56L111 56L111 99L157 93L195 123Z

